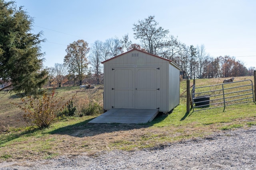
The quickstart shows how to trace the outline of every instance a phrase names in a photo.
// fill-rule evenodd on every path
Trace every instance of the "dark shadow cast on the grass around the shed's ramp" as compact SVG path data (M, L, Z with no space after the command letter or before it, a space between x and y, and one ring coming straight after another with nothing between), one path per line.
M88 123L92 119L68 125L49 132L50 134L70 135L73 137L90 137L103 133L114 131L129 131L132 129L141 129L163 121L166 117L157 115L153 121L145 124L122 124L122 123Z

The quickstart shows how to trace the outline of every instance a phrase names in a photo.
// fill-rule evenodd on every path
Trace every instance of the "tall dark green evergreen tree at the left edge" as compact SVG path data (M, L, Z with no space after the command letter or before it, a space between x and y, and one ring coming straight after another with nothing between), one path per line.
M33 19L14 1L0 0L0 78L12 91L36 94L47 82L42 70L41 32L32 34Z

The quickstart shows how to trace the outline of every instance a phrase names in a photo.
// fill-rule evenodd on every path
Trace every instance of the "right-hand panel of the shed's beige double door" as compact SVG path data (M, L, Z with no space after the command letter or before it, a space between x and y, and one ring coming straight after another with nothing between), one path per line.
M135 69L135 108L156 109L159 107L160 71L157 68ZM158 90L159 89L159 90Z

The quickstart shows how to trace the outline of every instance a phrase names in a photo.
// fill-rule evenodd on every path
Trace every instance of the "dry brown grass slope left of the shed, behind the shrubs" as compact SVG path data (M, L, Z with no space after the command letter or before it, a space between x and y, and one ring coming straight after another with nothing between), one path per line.
M49 89L50 91L51 89ZM80 89L78 86L76 87L61 87L56 88L56 95L58 97L65 97L63 103L68 101L72 96L76 94L76 98L74 99L74 103L76 107L81 109L86 106L90 99L98 102L103 107L103 88L102 86L97 86L94 89ZM13 103L23 104L20 100L20 96L16 94L6 93L4 91L0 91L1 98L1 107L0 107L0 126L1 127L25 127L28 124L23 119L24 111L20 110ZM1 132L1 129L0 129Z

